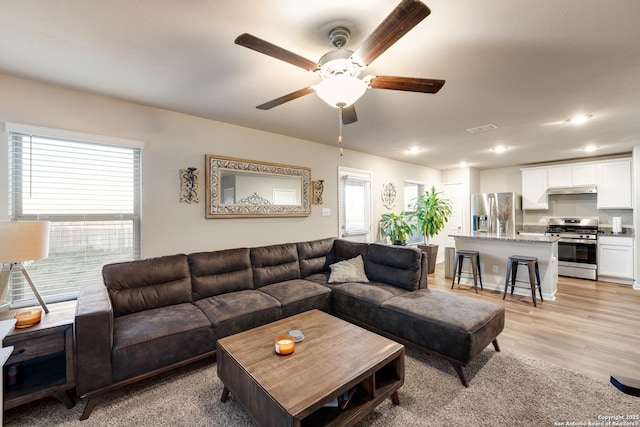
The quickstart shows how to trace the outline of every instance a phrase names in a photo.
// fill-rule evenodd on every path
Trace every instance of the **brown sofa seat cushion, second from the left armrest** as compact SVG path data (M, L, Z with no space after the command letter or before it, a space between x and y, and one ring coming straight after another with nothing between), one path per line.
M216 338L276 321L280 315L278 300L256 290L229 292L194 304L213 325Z

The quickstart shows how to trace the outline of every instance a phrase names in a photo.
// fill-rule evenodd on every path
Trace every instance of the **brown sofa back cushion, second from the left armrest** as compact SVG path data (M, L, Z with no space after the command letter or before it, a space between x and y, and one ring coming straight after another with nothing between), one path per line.
M253 289L248 248L199 252L189 255L193 300L227 292Z

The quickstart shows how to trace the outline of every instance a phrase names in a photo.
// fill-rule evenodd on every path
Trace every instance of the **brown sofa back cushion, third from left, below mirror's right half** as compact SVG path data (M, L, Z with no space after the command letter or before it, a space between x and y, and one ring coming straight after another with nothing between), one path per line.
M256 288L300 278L295 243L251 248L251 265Z

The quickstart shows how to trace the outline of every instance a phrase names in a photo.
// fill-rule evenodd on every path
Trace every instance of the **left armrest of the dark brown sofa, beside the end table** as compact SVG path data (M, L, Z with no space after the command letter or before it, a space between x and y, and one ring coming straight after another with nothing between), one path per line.
M113 308L102 283L80 288L76 305L76 388L80 397L112 384Z

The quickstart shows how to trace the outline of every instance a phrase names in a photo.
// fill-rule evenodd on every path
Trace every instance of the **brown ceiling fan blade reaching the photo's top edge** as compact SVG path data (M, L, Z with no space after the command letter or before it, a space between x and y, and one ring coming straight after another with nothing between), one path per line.
M352 56L353 61L368 66L430 13L427 5L418 0L402 0L362 42Z

